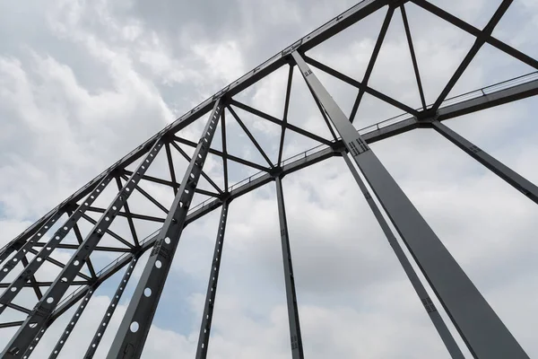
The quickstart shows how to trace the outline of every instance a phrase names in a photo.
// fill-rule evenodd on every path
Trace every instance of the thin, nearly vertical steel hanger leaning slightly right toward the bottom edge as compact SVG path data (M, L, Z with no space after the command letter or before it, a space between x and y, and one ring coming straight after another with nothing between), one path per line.
M297 305L297 294L295 293L293 266L291 265L290 233L288 232L288 221L286 219L286 208L284 206L282 179L280 177L276 177L275 182L276 201L278 203L278 218L281 227L282 263L284 265L284 281L286 284L288 321L290 323L291 357L293 359L303 359L305 355L303 353L302 337L300 335L299 307Z

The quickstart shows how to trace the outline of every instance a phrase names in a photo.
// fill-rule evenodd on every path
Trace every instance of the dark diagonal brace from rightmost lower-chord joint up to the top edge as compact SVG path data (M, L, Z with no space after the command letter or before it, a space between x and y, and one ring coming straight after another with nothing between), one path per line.
M471 64L471 61L473 61L473 58L478 53L478 50L480 50L480 48L482 48L482 46L486 43L486 40L490 37L491 32L493 32L493 29L495 29L495 26L497 26L504 13L507 12L508 6L512 4L512 1L513 0L503 0L502 3L499 4L499 8L491 17L490 22L488 22L488 24L480 32L480 35L477 36L476 40L473 43L473 47L467 52L467 55L465 55L460 65L457 66L456 72L452 75L452 77L450 77L450 80L448 80L447 85L439 94L438 99L432 106L433 111L436 111L439 106L441 106L441 102L445 101L448 93L454 88L454 85L462 76L462 74L464 74L464 71L467 66Z

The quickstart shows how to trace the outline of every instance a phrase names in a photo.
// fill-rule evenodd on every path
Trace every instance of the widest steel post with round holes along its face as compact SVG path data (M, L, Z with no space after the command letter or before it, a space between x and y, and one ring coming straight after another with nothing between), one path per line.
M221 118L221 99L214 103L213 110L205 125L202 138L196 146L192 160L181 181L178 195L170 206L169 214L162 225L161 232L152 249L150 258L143 269L143 274L134 290L126 314L117 335L108 351L108 359L140 358L143 346L157 310L162 289L166 282L172 259L178 248L179 238L185 226L187 211L195 194L205 158Z

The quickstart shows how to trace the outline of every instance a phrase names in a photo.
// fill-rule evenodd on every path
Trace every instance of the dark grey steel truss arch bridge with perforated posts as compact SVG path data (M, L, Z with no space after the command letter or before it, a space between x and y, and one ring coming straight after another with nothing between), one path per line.
M282 263L290 324L291 355L293 358L303 358L290 239L282 194L282 177L314 163L338 156L343 157L343 160L348 164L357 185L423 304L426 314L430 317L438 335L447 347L449 355L453 358L464 357L461 348L456 344L455 337L448 330L447 324L439 315L438 309L427 293L426 287L428 286L437 296L443 310L447 312L448 317L456 327L457 334L463 339L473 357L483 359L528 358L516 338L508 331L508 328L491 309L482 294L465 275L455 258L439 241L438 236L430 229L428 223L386 171L384 165L377 159L369 144L412 131L415 128L433 128L474 160L482 163L490 171L499 175L502 180L519 190L525 197L538 203L538 188L533 183L525 180L515 171L510 170L490 154L485 153L481 148L443 124L445 120L450 118L457 118L482 109L490 109L538 93L538 74L534 72L447 99L449 92L458 83L465 69L485 44L499 49L535 70L538 70L538 61L491 35L512 3L510 0L501 2L483 29L478 29L468 22L464 22L426 0L412 0L411 2L474 37L472 48L457 66L456 71L451 75L434 103L430 105L426 103L422 90L420 66L415 56L412 33L405 13L405 5L408 1L366 0L351 7L346 12L326 22L316 31L310 32L288 48L284 48L237 81L216 92L168 127L163 128L158 134L140 144L134 151L100 173L71 197L66 198L0 250L0 263L2 264L0 280L4 280L10 274L15 274L10 282L0 283L0 286L4 288L0 294L0 314L9 308L26 315L25 320L4 322L0 316L0 328L18 328L9 344L3 349L2 357L27 358L34 351L39 351L39 337L43 336L55 320L76 306L73 318L68 321L63 334L57 340L56 347L50 353L50 358L56 358L65 346L65 342L70 337L95 290L108 278L123 270L122 280L117 286L117 291L109 303L100 326L95 328L94 333L89 333L89 336L93 338L84 358L93 357L111 315L121 298L126 282L133 273L134 266L138 265L143 267L143 274L136 285L134 295L121 320L112 346L108 349L107 358L139 358L142 355L146 337L183 229L188 223L194 222L213 210L220 209L221 216L195 355L196 358L205 358L209 346L213 304L216 300L221 251L230 201L255 188L274 182L281 226ZM308 57L308 50L315 48L325 40L375 12L385 12L385 20L378 33L366 73L361 80L351 78L312 57ZM421 108L419 109L413 109L369 86L369 77L386 37L387 28L396 15L402 16L404 22L417 90L421 97ZM239 92L253 86L281 67L289 69L282 118L275 118L238 101ZM343 113L343 110L325 89L324 84L319 81L317 76L321 72L348 83L356 89L357 97L350 116ZM308 89L325 119L326 126L332 133L332 139L317 136L288 122L293 74L299 78L302 77L302 80L308 84ZM401 109L403 114L357 131L352 123L365 94ZM268 158L262 146L256 141L256 136L253 136L241 121L236 112L237 109L256 115L260 121L269 121L281 127L282 136L278 161L272 162ZM248 161L246 158L227 152L225 114L233 117L239 123L249 140L265 158L265 165ZM182 136L182 130L195 121L203 121L205 124L202 136L197 142ZM221 127L221 151L211 147L213 136L218 127ZM299 153L290 159L282 159L284 137L291 132L316 141L317 147ZM191 149L192 154L183 149L186 147ZM146 174L159 153L167 159L168 178L166 176L158 178ZM176 177L175 163L171 153L176 153L176 155L179 153L189 163L182 178ZM209 154L219 157L222 161L224 179L222 188L204 172L204 162ZM256 169L258 172L246 180L230 184L228 176L230 162ZM198 181L202 179L211 184L211 190L199 188ZM175 195L171 206L163 206L159 200L144 190L144 185L147 183L156 183L171 188ZM116 195L109 201L108 206L93 206L105 188L114 186L117 186L117 189L114 190ZM129 197L133 193L138 193L152 202L161 210L161 216L138 214L136 204L129 201ZM195 196L204 196L208 199L199 203L198 206L191 206ZM377 206L377 202L381 206ZM89 214L97 214L99 219L95 220ZM118 217L127 220L131 238L124 238L110 229L111 223ZM394 225L396 233L391 230L386 218ZM87 232L81 230L83 221L91 223L91 229ZM143 240L140 239L134 226L134 223L140 221L155 223L156 226L156 231ZM405 255L404 249L396 241L396 235L402 239L406 250L411 253L411 257ZM69 236L76 239L75 244L66 243L65 238L69 238ZM100 245L100 241L106 236L117 241L118 244L121 242L123 247ZM71 258L65 261L53 258L51 254L56 249L73 250ZM147 250L151 250L147 262L138 263L137 259ZM98 252L114 252L117 253L118 257L108 266L96 271L91 261L91 254ZM418 265L427 283L421 282L412 267L412 262ZM36 279L36 272L45 263L59 267L60 272L50 282L39 282ZM83 271L82 268L87 270ZM23 288L31 288L35 292L35 307L33 309L13 302ZM45 293L43 293L42 288L46 289Z

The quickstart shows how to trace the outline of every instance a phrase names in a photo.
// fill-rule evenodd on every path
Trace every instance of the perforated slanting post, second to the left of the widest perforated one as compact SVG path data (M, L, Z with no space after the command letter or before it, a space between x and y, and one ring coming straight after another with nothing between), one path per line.
M90 196L87 197L85 201L82 202L82 205L78 206L74 213L70 215L69 218L67 218L65 223L62 224L62 226L56 230L56 232L50 237L50 240L47 242L47 244L43 246L41 250L39 250L39 253L36 254L36 256L30 261L28 266L24 267L24 270L21 272L21 274L17 276L17 278L15 278L15 280L13 280L13 282L5 289L4 293L0 295L0 304L4 304L4 306L0 306L0 314L4 311L7 304L12 302L13 299L17 296L17 294L22 291L22 288L24 287L26 282L30 280L31 276L35 275L39 267L41 267L41 265L45 263L45 259L48 258L52 251L55 250L60 244L60 242L64 240L67 233L69 233L69 231L74 228L74 225L79 219L81 219L82 215L84 215L84 212L86 212L88 206L91 206L91 204L97 199L97 197L100 196L102 190L107 187L110 180L112 180L112 175L108 174L103 180L100 181L100 184L96 188L94 188L93 191L91 191ZM39 235L39 232L36 235ZM30 241L28 241L27 244L33 243L34 239L32 238L30 239ZM19 253L17 253L17 255L18 254ZM10 259L10 261L12 260L13 259ZM4 267L4 269L6 268ZM66 289L67 288L65 288L65 290ZM59 300L60 297L61 295L57 297L57 299Z

